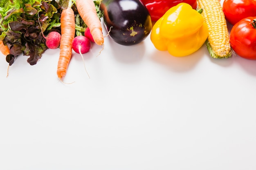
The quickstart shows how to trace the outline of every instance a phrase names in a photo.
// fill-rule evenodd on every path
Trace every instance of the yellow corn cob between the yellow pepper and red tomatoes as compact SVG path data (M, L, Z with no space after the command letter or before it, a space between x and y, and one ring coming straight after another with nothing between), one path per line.
M202 16L208 26L209 35L205 42L213 58L231 57L227 22L219 0L197 0L198 9L203 9Z

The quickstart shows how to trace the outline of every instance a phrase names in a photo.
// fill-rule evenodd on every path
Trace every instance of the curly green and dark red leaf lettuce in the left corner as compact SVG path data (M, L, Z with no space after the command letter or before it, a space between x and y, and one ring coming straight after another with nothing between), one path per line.
M60 32L60 9L55 0L0 1L0 40L10 49L9 65L22 53L30 65L37 63L47 49L44 34Z

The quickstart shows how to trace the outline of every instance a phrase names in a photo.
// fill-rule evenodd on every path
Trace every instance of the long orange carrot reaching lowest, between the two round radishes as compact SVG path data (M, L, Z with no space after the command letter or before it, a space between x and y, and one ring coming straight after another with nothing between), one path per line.
M66 75L68 64L72 56L72 41L75 36L75 16L70 7L61 12L61 42L57 75L61 79Z

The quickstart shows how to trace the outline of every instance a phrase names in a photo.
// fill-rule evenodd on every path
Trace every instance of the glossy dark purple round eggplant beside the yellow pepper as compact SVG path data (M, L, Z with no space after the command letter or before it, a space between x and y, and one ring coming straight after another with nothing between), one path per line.
M100 10L110 38L118 44L135 45L150 34L151 17L140 0L102 0Z

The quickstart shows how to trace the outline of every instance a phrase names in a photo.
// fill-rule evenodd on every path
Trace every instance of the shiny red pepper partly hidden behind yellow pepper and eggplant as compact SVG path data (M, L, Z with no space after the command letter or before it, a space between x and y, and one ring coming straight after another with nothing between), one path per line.
M168 9L176 6L180 2L190 4L193 9L196 9L196 0L141 0L146 5L152 21L157 21L161 18Z

